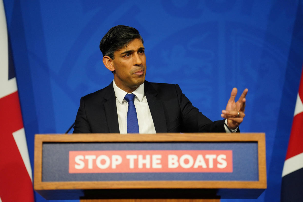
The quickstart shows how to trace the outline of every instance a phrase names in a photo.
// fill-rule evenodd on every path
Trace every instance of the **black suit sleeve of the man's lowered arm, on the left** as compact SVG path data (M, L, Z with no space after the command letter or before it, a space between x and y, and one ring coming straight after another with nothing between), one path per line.
M84 98L80 99L80 107L75 120L75 126L73 133L91 133L92 129L87 121L85 113Z

